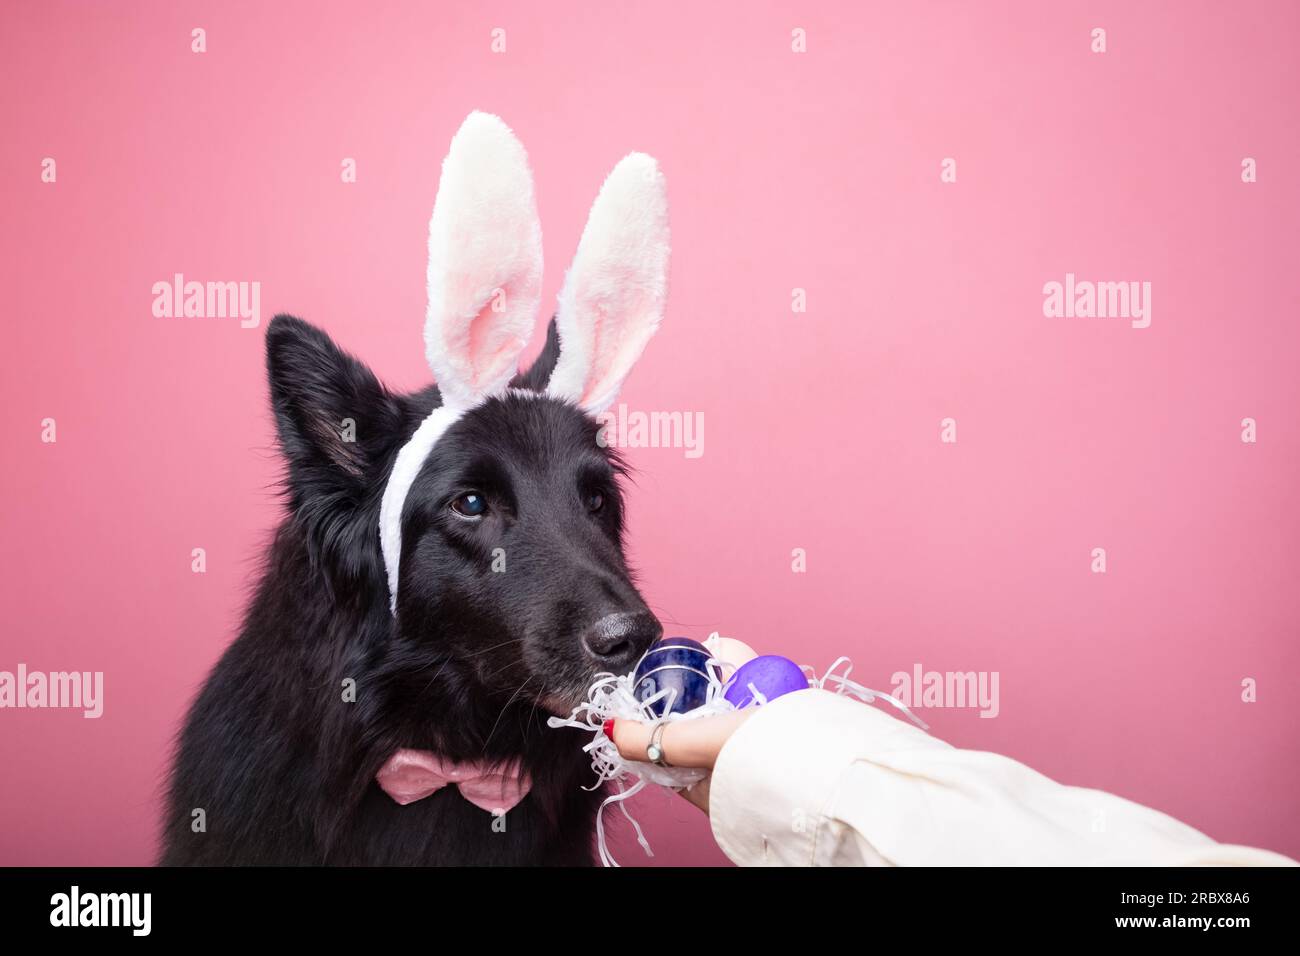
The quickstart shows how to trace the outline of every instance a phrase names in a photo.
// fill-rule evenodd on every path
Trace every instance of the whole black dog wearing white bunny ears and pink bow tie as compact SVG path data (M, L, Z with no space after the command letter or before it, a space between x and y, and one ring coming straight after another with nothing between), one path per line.
M541 225L523 144L471 113L429 224L438 388L394 395L322 332L270 323L289 518L181 735L162 862L592 862L586 741L546 717L662 633L592 416L663 317L667 264L663 177L632 153L516 375Z

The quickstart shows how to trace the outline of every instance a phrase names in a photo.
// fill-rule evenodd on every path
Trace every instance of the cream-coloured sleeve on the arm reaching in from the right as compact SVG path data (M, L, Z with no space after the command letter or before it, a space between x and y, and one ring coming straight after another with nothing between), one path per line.
M1295 865L816 689L741 724L708 803L741 866Z

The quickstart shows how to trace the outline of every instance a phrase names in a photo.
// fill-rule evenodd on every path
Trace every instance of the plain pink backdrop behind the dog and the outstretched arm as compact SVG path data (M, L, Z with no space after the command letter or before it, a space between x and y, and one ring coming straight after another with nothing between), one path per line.
M671 306L621 401L706 420L698 460L630 453L670 632L849 654L878 687L998 671L996 719L924 711L935 732L1300 855L1295 4L3 20L0 670L101 670L107 701L0 711L0 864L153 858L169 741L277 520L265 323L428 382L425 230L472 108L532 155L547 302L610 166L645 150L667 173ZM1067 271L1152 282L1152 326L1045 319ZM176 272L260 281L261 326L155 319ZM723 860L692 808L636 806L655 862ZM641 860L625 832L618 852Z

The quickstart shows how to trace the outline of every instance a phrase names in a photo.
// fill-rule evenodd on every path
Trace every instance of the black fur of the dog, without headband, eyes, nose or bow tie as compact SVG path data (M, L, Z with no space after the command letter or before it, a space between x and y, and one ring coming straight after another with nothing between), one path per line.
M540 393L558 351L552 323L514 385ZM289 515L181 734L161 862L590 864L602 795L584 790L584 736L546 717L660 633L623 555L621 466L595 421L506 393L454 424L406 502L394 617L380 501L438 390L393 394L290 316L268 326L266 362ZM477 522L450 507L469 490L489 502ZM633 623L593 654L611 614ZM533 787L499 822L455 787L400 806L374 775L403 747L519 766Z

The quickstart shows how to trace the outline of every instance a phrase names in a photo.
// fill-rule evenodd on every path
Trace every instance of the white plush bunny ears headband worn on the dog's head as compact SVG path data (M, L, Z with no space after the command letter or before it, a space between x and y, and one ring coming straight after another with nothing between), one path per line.
M633 152L601 187L560 290L560 354L546 395L598 415L663 319L668 196L659 164ZM402 506L438 438L504 394L541 303L542 226L528 153L500 118L465 117L442 161L429 221L425 355L442 393L398 453L380 507L380 544L396 613Z

